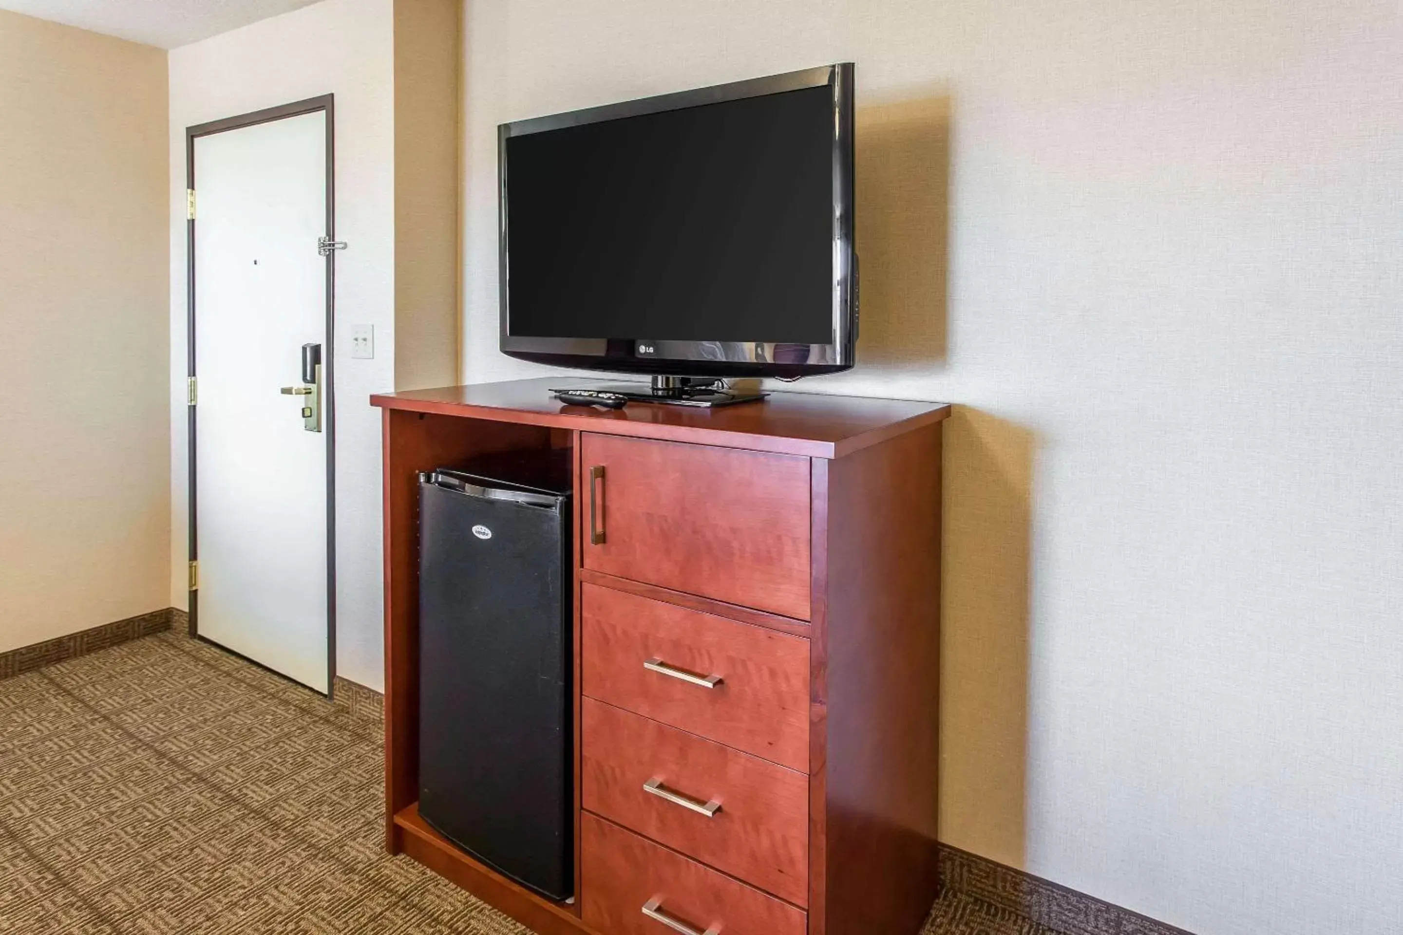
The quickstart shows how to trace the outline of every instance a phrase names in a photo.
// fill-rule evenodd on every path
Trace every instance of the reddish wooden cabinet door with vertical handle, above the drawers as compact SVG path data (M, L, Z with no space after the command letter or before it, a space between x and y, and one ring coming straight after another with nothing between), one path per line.
M584 566L808 620L808 458L585 433Z

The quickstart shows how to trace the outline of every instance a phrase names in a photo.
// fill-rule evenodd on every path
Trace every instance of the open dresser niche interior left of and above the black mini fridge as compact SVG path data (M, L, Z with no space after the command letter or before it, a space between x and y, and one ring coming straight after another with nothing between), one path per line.
M386 848L401 849L394 814L418 800L418 472L477 454L547 449L550 429L383 409Z

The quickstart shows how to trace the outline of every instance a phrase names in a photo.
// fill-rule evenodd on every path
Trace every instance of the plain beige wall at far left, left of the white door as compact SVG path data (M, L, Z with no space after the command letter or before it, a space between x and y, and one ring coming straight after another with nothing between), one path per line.
M170 604L166 52L0 11L0 650Z

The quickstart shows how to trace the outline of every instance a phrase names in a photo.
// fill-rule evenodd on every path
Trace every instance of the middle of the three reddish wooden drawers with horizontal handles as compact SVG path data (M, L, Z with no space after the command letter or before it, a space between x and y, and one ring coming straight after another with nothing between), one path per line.
M808 777L592 698L584 807L804 906Z

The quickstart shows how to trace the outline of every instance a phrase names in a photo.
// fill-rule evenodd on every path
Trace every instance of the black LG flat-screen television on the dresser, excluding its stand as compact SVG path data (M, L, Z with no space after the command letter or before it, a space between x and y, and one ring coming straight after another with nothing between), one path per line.
M501 349L568 367L853 366L850 63L502 123Z

